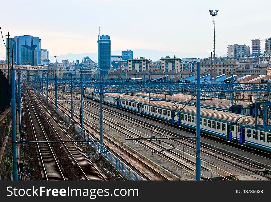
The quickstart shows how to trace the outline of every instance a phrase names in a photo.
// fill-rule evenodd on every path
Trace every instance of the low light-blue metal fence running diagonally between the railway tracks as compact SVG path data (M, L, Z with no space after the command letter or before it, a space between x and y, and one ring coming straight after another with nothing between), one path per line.
M40 92L38 93L42 98L45 98ZM69 123L69 126L73 128L77 133L79 133L81 137L86 138L87 141L95 140L89 133L87 133L78 124L72 121L70 116L67 116L65 113L63 113L59 107L55 108L54 103L48 100L47 104L52 109L55 109L55 112L67 123ZM141 177L139 174L133 171L127 164L123 163L122 160L118 159L112 152L108 151L106 147L100 145L99 142L89 142L89 145L95 149L96 153L103 155L110 162L110 164L128 180L146 180L144 177Z

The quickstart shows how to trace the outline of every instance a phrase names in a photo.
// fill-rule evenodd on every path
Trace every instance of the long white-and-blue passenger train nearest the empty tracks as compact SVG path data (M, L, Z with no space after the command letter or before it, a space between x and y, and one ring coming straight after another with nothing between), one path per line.
M99 93L88 91L84 97L99 101ZM104 93L103 102L142 116L154 117L171 124L196 130L196 107L121 93ZM271 152L271 131L255 128L255 117L202 108L201 133L206 133L240 145ZM262 124L261 120L257 120Z

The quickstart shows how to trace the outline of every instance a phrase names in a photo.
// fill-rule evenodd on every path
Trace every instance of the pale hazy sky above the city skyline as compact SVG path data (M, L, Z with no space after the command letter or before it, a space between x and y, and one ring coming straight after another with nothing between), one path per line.
M271 37L270 0L15 0L0 5L3 35L39 36L50 56L97 52L99 26L101 35L110 35L111 50L208 53L213 50L210 9L219 10L217 51ZM6 49L0 42L2 57Z

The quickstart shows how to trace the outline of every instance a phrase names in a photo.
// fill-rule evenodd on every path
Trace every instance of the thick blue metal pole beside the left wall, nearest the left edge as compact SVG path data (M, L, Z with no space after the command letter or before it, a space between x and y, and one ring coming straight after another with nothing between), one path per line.
M15 103L15 70L11 70L11 117L12 117L12 156L13 180L18 181L17 148L16 148L16 103Z

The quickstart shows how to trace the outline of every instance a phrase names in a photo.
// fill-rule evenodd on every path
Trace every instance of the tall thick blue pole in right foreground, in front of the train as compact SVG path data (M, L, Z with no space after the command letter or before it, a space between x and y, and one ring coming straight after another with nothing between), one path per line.
M196 180L200 181L200 62L197 62Z

